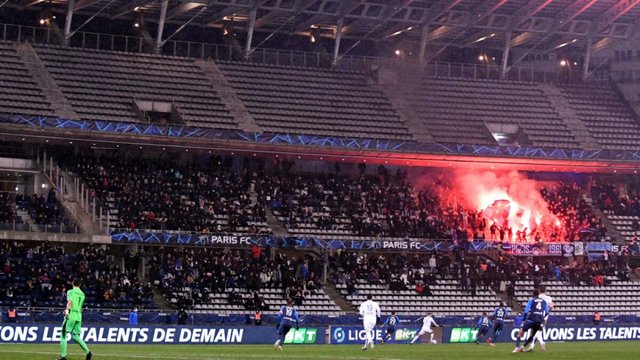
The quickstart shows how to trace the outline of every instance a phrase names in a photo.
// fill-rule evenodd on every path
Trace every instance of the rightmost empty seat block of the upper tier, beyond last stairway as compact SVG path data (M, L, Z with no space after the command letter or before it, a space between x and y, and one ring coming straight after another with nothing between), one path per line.
M611 87L572 84L560 89L603 149L640 148L640 123Z

